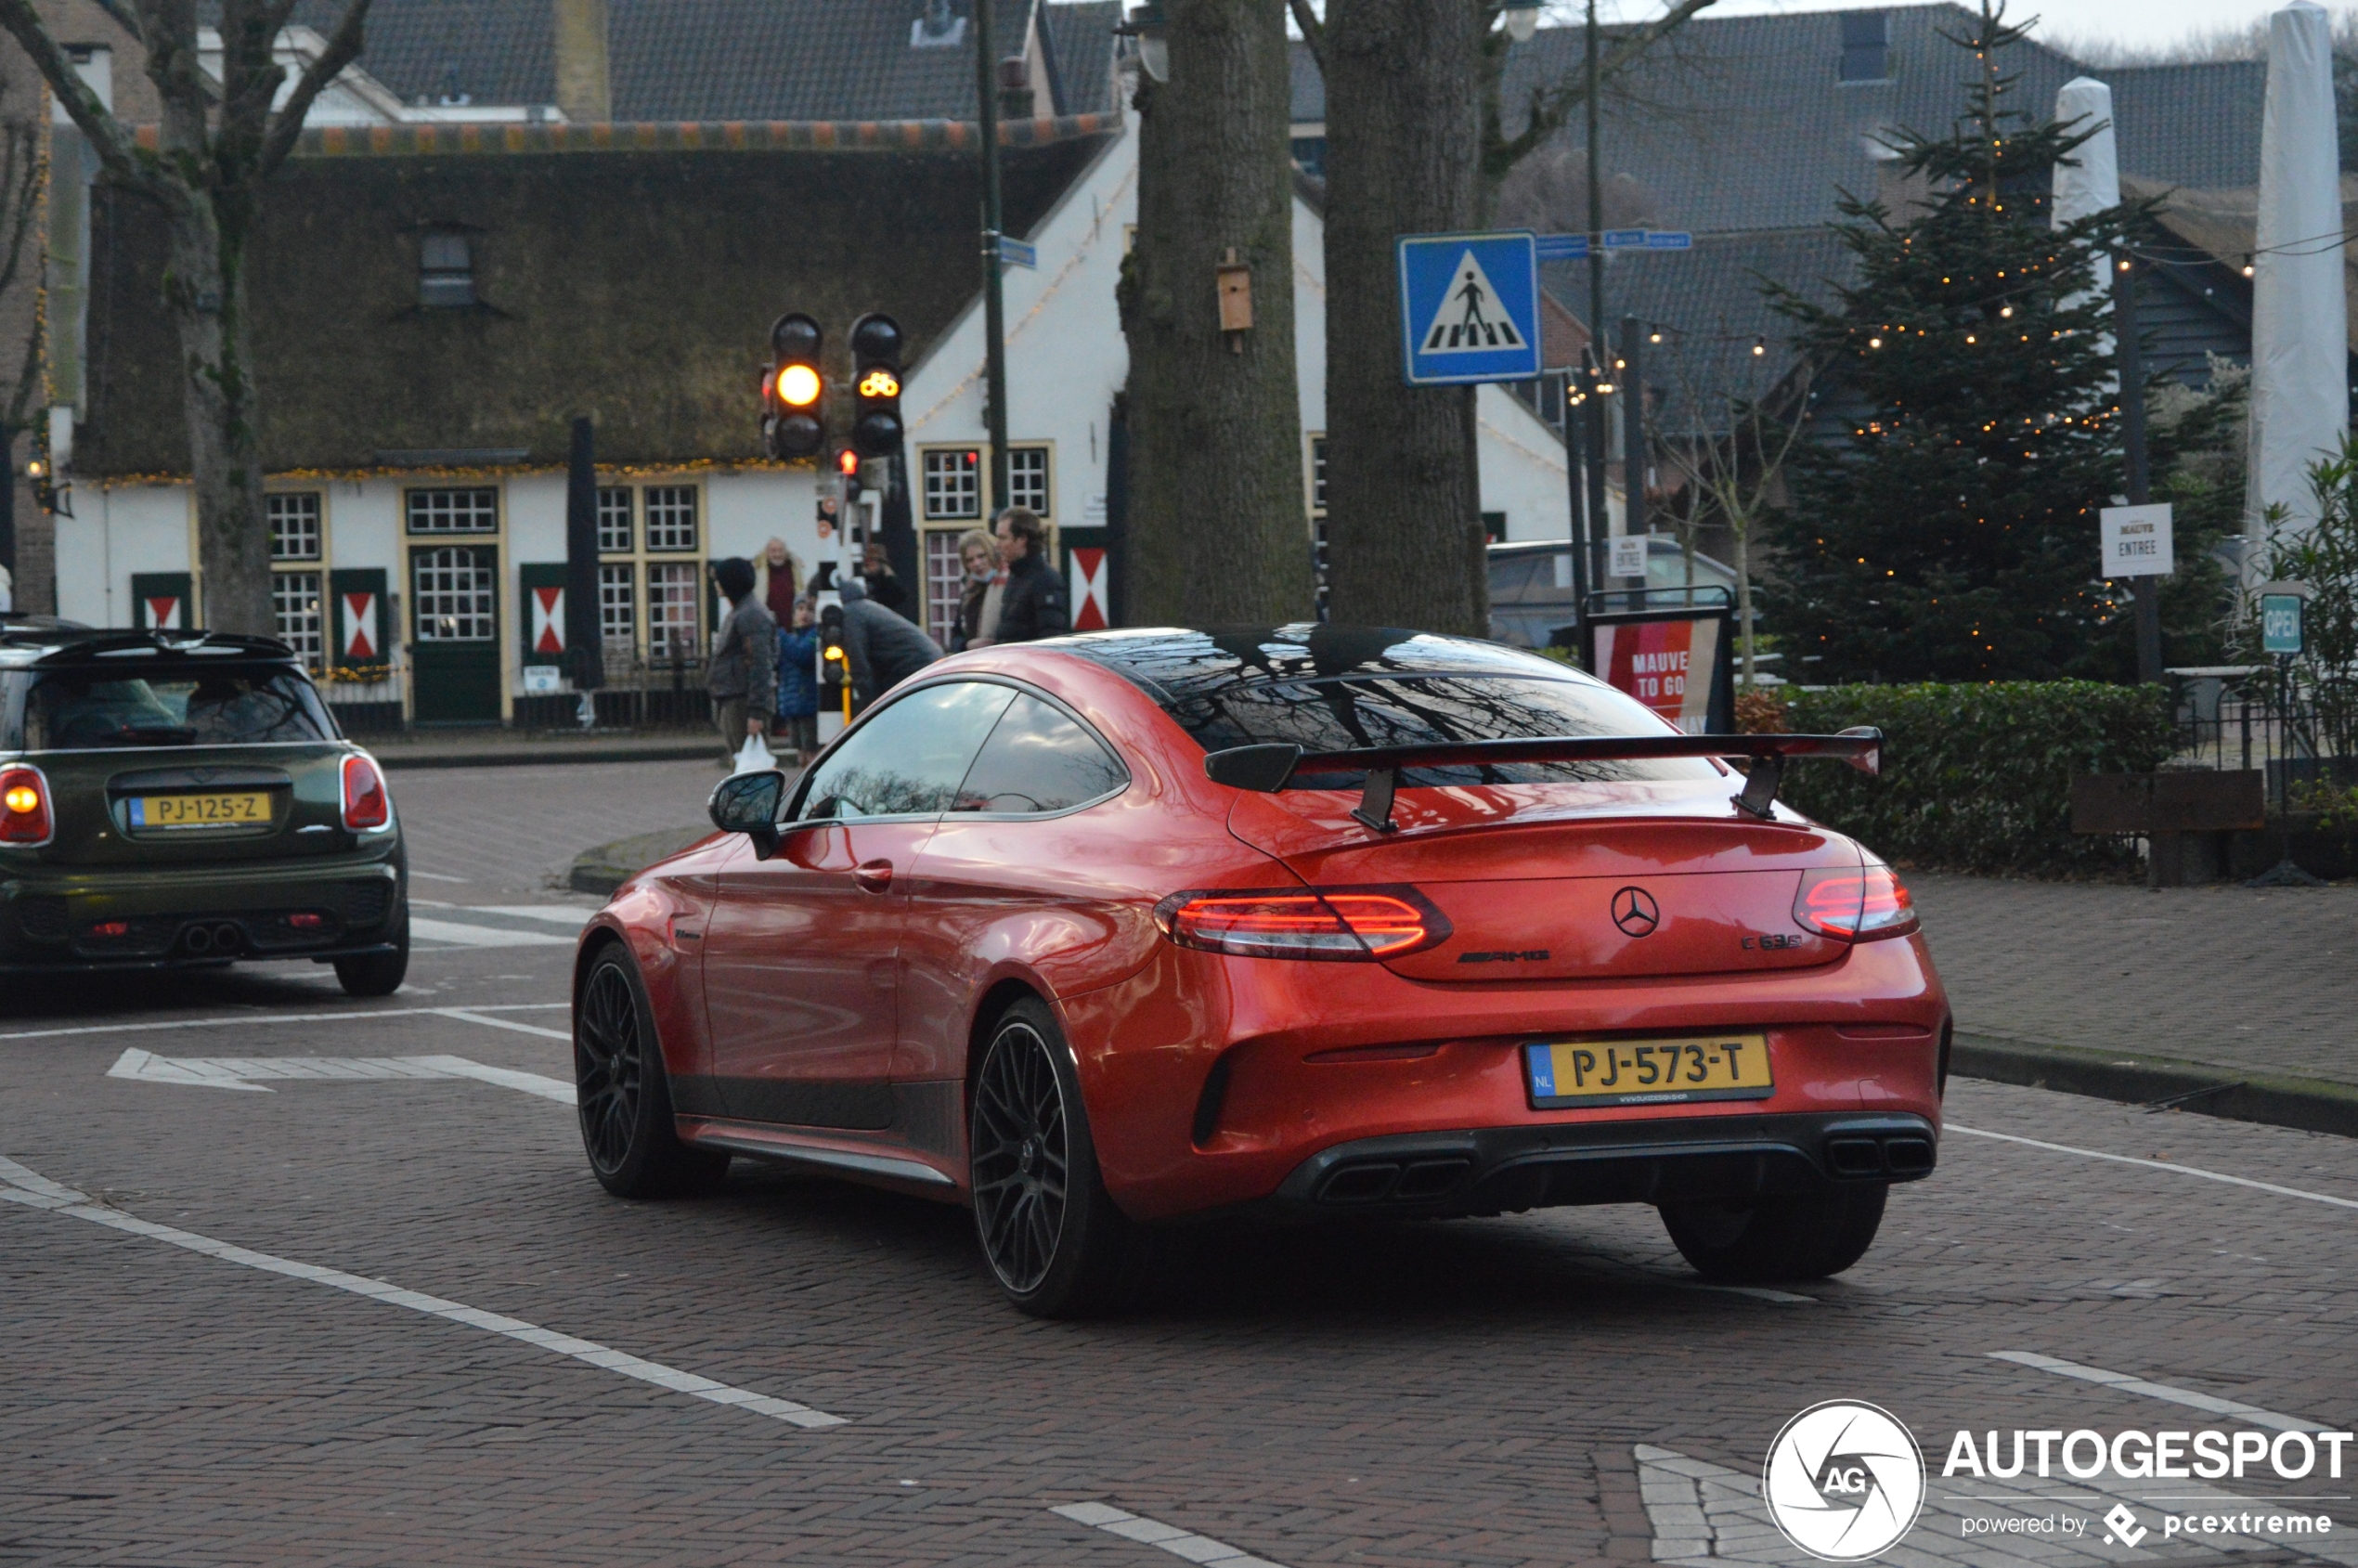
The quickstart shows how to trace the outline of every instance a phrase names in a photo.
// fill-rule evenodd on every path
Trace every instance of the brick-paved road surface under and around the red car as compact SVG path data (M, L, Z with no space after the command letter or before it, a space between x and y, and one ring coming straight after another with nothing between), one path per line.
M523 872L488 870L486 797L410 788L403 806L420 863L441 851L507 889L453 884L450 903L531 901L502 879ZM436 842L469 813L490 823L474 846ZM1877 1250L1830 1285L1702 1290L1648 1212L1556 1210L1210 1233L1153 1311L1042 1325L1000 1304L953 1210L745 1165L712 1200L615 1203L564 1106L493 1082L257 1094L108 1075L141 1049L564 1078L564 1040L408 1012L561 1028L521 1007L561 1000L564 974L561 946L446 946L375 1004L266 971L0 1000L0 1155L38 1174L0 1181L92 1200L0 1203L0 1561L1174 1561L1118 1533L1153 1526L1052 1511L1075 1502L1295 1568L1648 1561L1691 1556L1688 1528L1738 1551L1724 1514L1691 1526L1669 1488L1754 1476L1820 1398L1886 1405L1936 1467L1964 1427L2226 1424L1997 1351L2358 1419L2358 1207L2294 1195L2358 1203L2358 1144L2035 1089L1959 1082L1950 1113L2294 1193L1952 1132L1941 1174L1903 1188ZM274 1021L299 1012L384 1016ZM424 1294L368 1299L92 1217ZM519 1342L535 1330L590 1349ZM597 1346L842 1424L689 1398L597 1365ZM1934 1481L1936 1514L1969 1507L1950 1490ZM2341 1551L2358 1509L2318 1507ZM1919 1528L1917 1561L2026 1561L1943 1530L1952 1516ZM2158 1542L2134 1559L2188 1559Z

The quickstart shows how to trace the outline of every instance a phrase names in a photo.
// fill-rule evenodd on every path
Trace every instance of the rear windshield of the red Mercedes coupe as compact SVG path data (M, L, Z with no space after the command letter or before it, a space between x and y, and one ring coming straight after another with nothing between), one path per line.
M1167 712L1203 750L1292 743L1304 752L1434 740L1537 736L1660 736L1662 719L1613 686L1528 674L1382 674L1259 681L1174 700ZM1401 785L1714 778L1702 757L1632 762L1514 762L1408 769ZM1363 773L1304 773L1290 788L1358 788Z

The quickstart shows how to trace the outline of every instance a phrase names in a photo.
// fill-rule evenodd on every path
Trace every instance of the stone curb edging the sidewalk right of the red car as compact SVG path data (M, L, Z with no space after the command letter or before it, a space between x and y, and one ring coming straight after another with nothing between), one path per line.
M2238 1073L2209 1061L2125 1056L1964 1033L1950 1047L1950 1070L1959 1078L2087 1094L2155 1111L2195 1111L2231 1122L2266 1122L2268 1127L2358 1139L2358 1085L2325 1078Z

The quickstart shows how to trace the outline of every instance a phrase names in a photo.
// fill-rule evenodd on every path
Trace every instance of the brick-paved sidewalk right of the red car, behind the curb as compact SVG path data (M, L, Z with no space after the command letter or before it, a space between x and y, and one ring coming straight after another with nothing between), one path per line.
M1908 887L1962 1030L2358 1082L2358 887Z

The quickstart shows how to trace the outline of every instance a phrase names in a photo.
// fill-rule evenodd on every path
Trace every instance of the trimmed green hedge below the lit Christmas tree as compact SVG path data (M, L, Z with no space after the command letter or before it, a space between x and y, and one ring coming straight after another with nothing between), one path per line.
M1990 681L1799 691L1787 729L1884 731L1875 778L1835 764L1785 769L1783 797L1891 861L2054 872L2120 865L2129 846L2070 830L2073 773L2150 773L2174 750L2162 686Z

